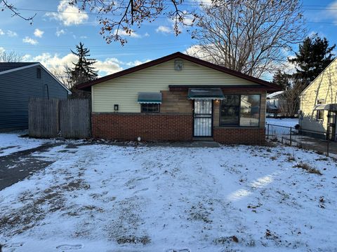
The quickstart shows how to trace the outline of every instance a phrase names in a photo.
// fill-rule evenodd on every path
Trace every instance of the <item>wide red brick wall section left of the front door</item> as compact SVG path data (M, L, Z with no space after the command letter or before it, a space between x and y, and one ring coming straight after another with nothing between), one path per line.
M192 141L193 122L185 114L93 113L94 138L119 141Z

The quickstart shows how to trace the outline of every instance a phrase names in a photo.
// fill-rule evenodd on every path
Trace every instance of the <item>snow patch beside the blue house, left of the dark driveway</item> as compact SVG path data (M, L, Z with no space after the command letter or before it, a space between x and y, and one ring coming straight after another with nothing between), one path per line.
M17 151L25 151L30 148L36 148L46 142L46 140L43 139L20 137L20 135L25 133L27 132L0 133L0 157Z

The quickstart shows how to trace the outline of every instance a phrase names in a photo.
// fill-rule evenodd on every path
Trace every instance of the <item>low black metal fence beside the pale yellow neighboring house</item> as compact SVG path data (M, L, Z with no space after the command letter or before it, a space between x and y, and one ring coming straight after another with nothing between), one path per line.
M319 154L337 159L337 142L326 140L326 132L301 130L269 123L266 123L265 131L267 139L271 141L316 151Z

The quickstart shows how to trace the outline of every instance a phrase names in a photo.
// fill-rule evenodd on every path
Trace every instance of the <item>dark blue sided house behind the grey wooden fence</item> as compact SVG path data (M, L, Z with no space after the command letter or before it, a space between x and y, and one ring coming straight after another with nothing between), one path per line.
M40 63L0 63L0 130L28 128L30 97L67 99L70 93Z

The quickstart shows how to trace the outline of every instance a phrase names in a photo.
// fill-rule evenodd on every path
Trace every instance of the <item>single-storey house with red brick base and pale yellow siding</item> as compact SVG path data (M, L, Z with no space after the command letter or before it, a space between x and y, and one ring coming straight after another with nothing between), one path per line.
M77 86L91 90L93 137L263 144L265 80L181 52Z

